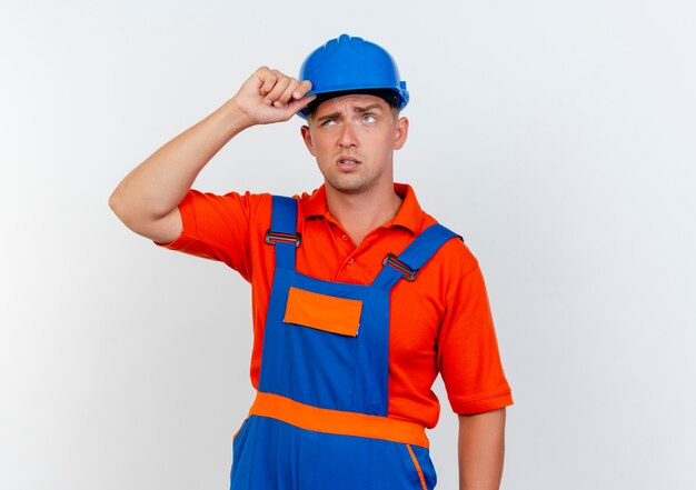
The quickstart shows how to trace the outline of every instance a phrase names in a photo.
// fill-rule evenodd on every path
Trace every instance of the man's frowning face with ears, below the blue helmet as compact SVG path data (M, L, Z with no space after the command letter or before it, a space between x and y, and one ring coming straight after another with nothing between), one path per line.
M408 120L396 119L381 98L349 94L317 107L302 138L327 187L361 193L394 192L392 153L406 142Z

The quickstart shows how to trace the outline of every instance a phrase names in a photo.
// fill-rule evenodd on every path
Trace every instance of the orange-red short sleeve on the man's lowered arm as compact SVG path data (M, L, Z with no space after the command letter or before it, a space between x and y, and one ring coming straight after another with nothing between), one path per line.
M447 288L447 313L438 338L438 367L449 403L459 414L513 404L486 284L478 263L474 263L468 271L454 268L463 272Z

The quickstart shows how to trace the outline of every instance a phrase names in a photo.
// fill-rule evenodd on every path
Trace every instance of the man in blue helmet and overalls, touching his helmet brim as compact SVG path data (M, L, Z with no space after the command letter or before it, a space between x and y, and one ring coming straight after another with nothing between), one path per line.
M232 489L432 489L425 428L439 414L438 373L459 414L460 489L499 487L511 398L481 273L392 179L408 98L382 48L344 34L299 80L259 68L111 197L137 233L251 283L257 397L235 437ZM239 132L296 113L318 190L190 190Z

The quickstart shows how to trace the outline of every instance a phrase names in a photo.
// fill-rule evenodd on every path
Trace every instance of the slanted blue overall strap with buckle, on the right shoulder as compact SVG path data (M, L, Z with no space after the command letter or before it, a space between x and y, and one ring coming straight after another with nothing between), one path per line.
M412 281L418 270L445 244L449 239L459 237L439 223L426 228L406 247L398 257L388 253L382 261L382 269L372 281L372 286L390 289L399 279Z

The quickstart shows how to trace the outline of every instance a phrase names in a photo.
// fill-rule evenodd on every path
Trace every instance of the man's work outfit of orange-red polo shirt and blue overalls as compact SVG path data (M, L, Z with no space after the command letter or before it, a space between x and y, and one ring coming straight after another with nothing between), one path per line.
M476 259L408 186L395 191L399 212L358 247L324 188L191 191L180 204L183 232L166 247L252 286L258 396L235 438L232 489L431 489L437 373L457 413L511 403Z

